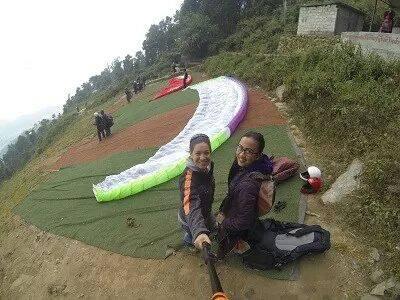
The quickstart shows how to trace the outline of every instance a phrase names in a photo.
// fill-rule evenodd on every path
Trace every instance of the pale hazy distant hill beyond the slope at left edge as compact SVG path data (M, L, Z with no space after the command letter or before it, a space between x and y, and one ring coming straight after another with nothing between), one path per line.
M62 106L50 106L33 114L23 115L15 120L0 124L0 157L7 151L7 146L21 133L28 130L38 121L51 118L55 113L62 112Z

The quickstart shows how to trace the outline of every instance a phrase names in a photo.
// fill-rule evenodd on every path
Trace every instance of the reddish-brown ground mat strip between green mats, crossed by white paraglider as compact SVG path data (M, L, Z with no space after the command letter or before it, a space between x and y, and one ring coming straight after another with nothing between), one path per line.
M58 170L61 167L77 165L94 161L114 153L145 149L166 144L183 129L193 116L197 104L178 107L162 115L157 115L137 124L120 130L101 142L97 138L82 141L71 147L51 167ZM265 96L249 92L248 113L239 129L261 127L270 124L285 124L274 104L265 100Z

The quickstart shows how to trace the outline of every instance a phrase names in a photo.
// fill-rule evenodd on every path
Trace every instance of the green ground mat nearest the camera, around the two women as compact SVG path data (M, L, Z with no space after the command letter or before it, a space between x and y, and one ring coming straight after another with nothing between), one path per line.
M255 128L265 136L266 153L296 157L286 126ZM229 167L243 131L236 132L213 154L215 162L215 207L226 193ZM57 235L80 240L123 255L164 258L167 245L177 245L182 232L177 221L180 205L178 178L120 201L98 203L92 184L105 176L142 163L157 149L111 155L105 159L61 169L15 208L27 222ZM276 200L287 206L269 217L298 221L301 182L293 178L279 185ZM288 278L292 269L268 273ZM267 276L269 276L267 274Z

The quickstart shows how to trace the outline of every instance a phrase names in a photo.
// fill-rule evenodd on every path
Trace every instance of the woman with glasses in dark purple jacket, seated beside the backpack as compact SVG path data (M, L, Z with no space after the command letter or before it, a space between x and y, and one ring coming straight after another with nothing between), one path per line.
M262 134L251 131L242 136L236 148L228 176L228 194L217 215L220 258L239 240L251 244L253 231L260 226L258 194L261 182L256 177L272 173L272 160L263 154L264 147Z

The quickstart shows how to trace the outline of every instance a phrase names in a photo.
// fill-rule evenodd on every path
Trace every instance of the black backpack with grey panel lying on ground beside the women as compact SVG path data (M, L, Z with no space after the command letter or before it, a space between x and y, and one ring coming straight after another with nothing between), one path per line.
M311 253L321 253L331 246L330 233L319 225L262 220L258 242L243 253L243 264L252 269L280 269ZM262 232L261 232L262 231Z

